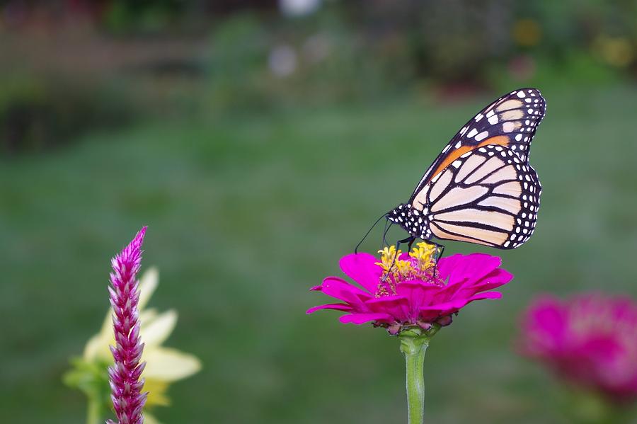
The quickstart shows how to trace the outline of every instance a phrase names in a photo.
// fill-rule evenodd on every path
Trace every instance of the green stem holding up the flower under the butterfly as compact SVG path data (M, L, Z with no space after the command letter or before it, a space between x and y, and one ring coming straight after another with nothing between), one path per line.
M422 424L425 419L425 376L423 373L425 352L429 340L440 326L432 326L429 331L409 328L401 331L401 352L405 354L407 367L407 416L408 424Z

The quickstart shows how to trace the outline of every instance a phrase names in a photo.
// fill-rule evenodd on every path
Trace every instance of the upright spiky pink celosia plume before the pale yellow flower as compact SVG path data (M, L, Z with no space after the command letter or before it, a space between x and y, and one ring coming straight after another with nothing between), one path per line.
M147 393L142 394L144 379L140 379L144 363L139 363L144 345L139 340L137 303L137 271L142 262L142 242L146 227L142 228L124 250L111 260L110 304L113 306L115 346L111 346L115 364L109 367L111 399L120 424L142 424L142 408ZM114 424L108 420L107 424Z

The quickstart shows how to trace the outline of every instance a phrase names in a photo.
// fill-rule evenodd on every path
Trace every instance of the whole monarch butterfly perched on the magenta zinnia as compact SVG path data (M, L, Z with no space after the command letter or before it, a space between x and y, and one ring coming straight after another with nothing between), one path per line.
M409 201L386 214L410 237L512 249L533 234L542 191L529 147L546 111L536 88L498 98L461 128ZM410 246L411 247L411 246Z

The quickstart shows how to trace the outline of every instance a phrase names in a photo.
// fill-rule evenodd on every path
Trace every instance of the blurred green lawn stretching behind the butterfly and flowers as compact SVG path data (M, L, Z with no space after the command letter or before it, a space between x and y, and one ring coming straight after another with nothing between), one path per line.
M546 401L556 384L512 348L520 311L539 292L637 295L637 90L544 95L536 233L489 251L516 275L503 299L471 304L432 341L430 423L561 422ZM4 416L82 422L84 399L60 376L101 324L109 258L148 224L144 268L161 270L151 304L180 312L168 344L205 366L172 387L173 406L156 410L165 423L404 422L398 341L333 312L306 316L326 301L308 289L339 273L488 100L155 122L2 161ZM365 248L378 247L375 233Z

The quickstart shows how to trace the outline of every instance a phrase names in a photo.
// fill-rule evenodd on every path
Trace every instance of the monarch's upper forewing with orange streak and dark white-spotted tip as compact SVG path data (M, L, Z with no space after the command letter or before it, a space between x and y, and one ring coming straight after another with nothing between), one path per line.
M483 108L451 139L416 186L409 203L435 176L461 156L490 144L507 147L527 163L529 147L546 111L537 88L520 88Z

